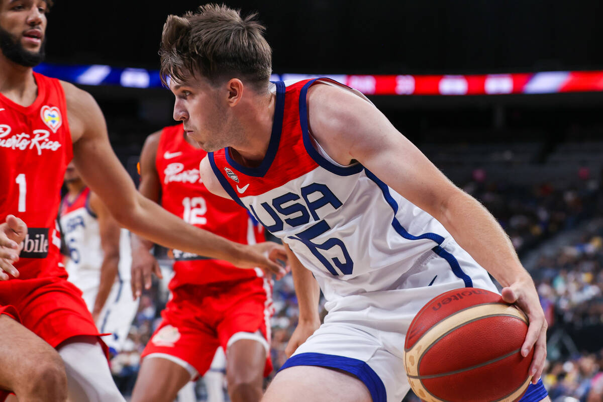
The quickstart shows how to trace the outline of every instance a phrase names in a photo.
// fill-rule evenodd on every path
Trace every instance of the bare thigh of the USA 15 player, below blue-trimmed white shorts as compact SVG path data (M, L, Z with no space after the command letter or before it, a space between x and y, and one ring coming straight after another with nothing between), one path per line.
M270 383L262 402L371 402L367 387L352 374L318 366L293 366Z

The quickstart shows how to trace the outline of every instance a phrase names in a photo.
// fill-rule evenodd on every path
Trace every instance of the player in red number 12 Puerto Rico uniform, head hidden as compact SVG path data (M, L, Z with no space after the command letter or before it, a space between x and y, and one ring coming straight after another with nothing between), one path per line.
M227 239L253 244L264 241L264 227L232 200L207 191L199 161L207 152L194 146L182 124L163 128L147 138L140 155L142 195L186 222ZM134 237L134 292L142 276L150 286L159 274L149 253L152 243ZM233 402L257 402L262 378L272 370L270 317L272 282L259 269L173 250L172 298L162 323L142 353L132 401L170 402L187 382L203 375L216 348L226 351L226 378ZM140 273L139 273L140 272ZM141 275L142 274L142 275Z

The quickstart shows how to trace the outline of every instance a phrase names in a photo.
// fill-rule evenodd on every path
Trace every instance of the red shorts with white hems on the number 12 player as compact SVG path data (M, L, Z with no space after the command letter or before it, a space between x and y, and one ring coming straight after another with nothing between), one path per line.
M209 369L219 346L226 351L239 339L256 339L266 348L267 376L272 371L272 314L272 281L265 278L180 286L172 291L142 357L156 353L175 357L177 363L192 366L197 377Z

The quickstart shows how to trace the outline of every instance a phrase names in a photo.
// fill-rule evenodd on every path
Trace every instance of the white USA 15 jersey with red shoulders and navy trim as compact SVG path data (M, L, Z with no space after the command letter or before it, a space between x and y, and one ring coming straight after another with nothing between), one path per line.
M350 295L398 289L402 274L434 253L472 286L450 253L460 248L440 222L361 164L333 162L315 142L306 110L314 83L276 83L273 132L259 167L239 165L229 149L209 154L229 195L311 269L327 309Z

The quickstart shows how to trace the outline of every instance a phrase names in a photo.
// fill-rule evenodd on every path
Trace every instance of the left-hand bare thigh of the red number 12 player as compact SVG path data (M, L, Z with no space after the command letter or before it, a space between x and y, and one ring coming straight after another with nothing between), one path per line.
M189 381L191 373L182 365L162 357L145 358L140 365L131 401L171 402Z

